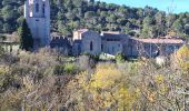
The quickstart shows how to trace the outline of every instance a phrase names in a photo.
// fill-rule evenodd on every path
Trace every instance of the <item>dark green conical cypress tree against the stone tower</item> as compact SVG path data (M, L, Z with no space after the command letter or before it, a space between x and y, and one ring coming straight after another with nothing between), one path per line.
M26 20L18 30L20 37L20 49L30 51L33 48L33 39Z

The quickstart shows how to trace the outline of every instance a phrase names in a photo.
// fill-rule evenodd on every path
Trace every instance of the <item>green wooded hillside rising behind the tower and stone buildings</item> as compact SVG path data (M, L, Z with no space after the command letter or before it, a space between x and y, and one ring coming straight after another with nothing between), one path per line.
M0 1L0 32L17 31L23 20L24 0ZM129 8L83 0L50 0L51 30L71 36L72 30L122 31L136 37L189 36L189 12L166 14L155 8Z

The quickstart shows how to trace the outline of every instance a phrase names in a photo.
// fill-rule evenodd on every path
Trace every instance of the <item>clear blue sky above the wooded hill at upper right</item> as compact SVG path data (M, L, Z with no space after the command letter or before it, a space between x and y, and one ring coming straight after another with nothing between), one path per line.
M172 6L172 8L175 9L173 13L186 11L189 12L189 0L173 0L173 3L171 3L172 0L99 0L99 1L126 4L135 8L143 8L146 6L150 6L163 11L168 11L168 7Z

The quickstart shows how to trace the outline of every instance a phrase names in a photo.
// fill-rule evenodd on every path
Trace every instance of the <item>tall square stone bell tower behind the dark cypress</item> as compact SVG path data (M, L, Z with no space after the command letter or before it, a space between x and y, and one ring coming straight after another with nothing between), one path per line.
M24 18L31 30L34 49L49 46L50 4L49 0L27 0Z

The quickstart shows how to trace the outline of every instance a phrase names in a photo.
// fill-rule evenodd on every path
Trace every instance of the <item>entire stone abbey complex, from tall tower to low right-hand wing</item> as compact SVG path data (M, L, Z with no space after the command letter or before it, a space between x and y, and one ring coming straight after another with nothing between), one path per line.
M106 53L116 56L117 53L122 53L128 58L153 58L169 56L185 43L185 40L175 37L140 39L121 32L99 33L89 29L73 31L72 40L63 36L50 36L49 0L27 0L24 18L31 30L34 49L50 47L64 54Z

